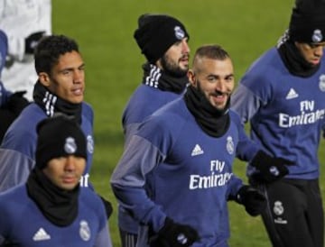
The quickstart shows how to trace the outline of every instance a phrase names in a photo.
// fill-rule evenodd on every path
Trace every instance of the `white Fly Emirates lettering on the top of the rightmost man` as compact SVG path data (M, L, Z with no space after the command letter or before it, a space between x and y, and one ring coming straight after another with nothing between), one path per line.
M325 109L315 110L315 102L308 100L300 103L300 111L299 115L279 114L279 126L290 128L295 125L316 123L323 119L325 114Z

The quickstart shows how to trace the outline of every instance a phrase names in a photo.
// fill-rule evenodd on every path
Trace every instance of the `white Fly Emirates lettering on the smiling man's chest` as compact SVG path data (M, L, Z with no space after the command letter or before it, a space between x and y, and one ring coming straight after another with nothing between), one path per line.
M200 176L199 174L190 175L190 189L204 189L225 186L232 177L232 173L223 172L225 161L211 160L209 176Z

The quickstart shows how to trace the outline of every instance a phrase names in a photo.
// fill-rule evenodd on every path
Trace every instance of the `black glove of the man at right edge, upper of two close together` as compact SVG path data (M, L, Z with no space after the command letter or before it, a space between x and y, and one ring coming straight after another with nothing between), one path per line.
M285 166L291 166L292 164L290 160L274 158L266 154L265 151L257 151L251 165L258 169L259 172L253 175L253 179L267 183L274 182L287 175L289 170Z

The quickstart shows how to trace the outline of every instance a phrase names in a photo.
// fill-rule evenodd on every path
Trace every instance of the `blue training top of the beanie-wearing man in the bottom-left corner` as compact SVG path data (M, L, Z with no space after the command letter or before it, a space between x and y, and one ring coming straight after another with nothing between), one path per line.
M1 193L0 245L9 240L24 247L112 247L102 201L91 189L79 191L78 216L64 227L42 215L25 185Z

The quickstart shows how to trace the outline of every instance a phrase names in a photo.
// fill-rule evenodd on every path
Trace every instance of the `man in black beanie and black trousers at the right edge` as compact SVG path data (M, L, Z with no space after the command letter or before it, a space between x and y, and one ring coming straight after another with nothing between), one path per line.
M297 0L289 29L247 70L231 98L262 149L287 160L270 183L252 164L250 182L264 191L262 214L274 247L324 247L318 149L325 131L325 1Z

